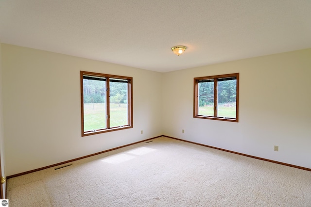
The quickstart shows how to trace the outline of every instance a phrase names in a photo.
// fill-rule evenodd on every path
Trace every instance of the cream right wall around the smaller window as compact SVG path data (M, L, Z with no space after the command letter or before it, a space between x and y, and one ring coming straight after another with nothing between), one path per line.
M228 73L240 73L239 123L193 118L193 78ZM311 49L165 73L163 133L311 168L310 77Z

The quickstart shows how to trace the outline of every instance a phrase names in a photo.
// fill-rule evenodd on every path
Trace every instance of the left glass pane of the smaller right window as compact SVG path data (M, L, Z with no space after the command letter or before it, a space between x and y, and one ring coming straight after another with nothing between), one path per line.
M214 116L214 80L199 81L198 115Z

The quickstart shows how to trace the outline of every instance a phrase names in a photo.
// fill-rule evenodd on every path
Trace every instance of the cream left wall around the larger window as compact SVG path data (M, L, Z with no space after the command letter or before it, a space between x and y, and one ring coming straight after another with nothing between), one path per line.
M7 44L2 60L7 175L162 135L161 73ZM133 77L133 128L81 137L80 70Z

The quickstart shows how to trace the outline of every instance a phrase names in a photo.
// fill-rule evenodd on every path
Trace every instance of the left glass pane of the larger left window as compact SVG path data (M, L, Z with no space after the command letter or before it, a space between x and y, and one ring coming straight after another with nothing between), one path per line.
M106 81L104 79L83 79L84 131L106 128L105 97Z

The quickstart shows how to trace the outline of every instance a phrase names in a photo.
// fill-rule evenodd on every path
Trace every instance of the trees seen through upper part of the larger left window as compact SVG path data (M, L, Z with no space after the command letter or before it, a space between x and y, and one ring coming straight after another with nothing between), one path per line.
M127 103L127 83L109 82L110 102ZM104 103L106 101L106 81L83 79L83 102Z

